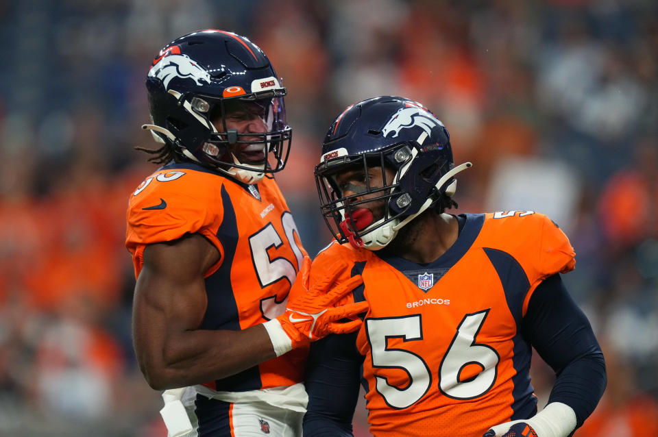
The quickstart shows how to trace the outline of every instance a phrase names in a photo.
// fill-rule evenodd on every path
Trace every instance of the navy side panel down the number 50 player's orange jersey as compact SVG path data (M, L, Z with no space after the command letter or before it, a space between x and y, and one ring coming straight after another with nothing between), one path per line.
M238 244L238 225L231 198L226 188L221 187L221 203L224 218L217 231L217 238L224 249L224 259L215 273L206 278L206 295L208 308L201 329L229 329L239 331L240 320L238 305L231 286L231 268L235 248ZM216 389L222 391L245 391L260 388L260 373L258 366L247 369L236 375L217 379Z

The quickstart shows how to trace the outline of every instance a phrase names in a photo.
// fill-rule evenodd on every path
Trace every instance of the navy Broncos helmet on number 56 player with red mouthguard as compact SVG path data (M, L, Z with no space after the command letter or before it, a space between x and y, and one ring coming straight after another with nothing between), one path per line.
M322 143L315 167L322 215L341 244L382 249L431 205L446 208L442 203L456 190L454 175L471 165L454 166L448 130L422 104L392 96L355 103L336 118ZM374 187L366 177L360 192L343 195L337 175L361 168L367 175L375 166L393 171L392 182L382 177ZM380 200L384 216L374 221L361 205Z

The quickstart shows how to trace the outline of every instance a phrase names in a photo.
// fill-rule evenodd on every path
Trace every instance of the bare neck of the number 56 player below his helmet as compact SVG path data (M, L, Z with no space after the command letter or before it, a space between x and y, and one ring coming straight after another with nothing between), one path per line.
M382 249L416 264L437 260L459 235L457 219L450 214L422 214L400 229L389 247Z

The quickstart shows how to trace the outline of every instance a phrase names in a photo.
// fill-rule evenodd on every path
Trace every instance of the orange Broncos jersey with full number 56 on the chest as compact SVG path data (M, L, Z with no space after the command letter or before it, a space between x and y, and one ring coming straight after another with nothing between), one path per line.
M535 414L521 319L541 280L575 264L550 219L465 214L454 245L422 266L334 242L313 271L337 258L363 277L348 300L370 305L356 348L372 434L482 436Z

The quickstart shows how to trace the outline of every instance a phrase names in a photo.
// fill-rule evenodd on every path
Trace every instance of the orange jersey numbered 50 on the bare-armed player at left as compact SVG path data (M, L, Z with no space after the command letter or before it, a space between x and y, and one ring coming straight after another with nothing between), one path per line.
M206 272L208 307L199 329L246 329L283 314L306 251L273 179L239 184L196 164L169 164L130 197L125 245L135 276L146 245L199 233L221 258ZM302 381L305 351L215 382L220 391L290 386Z

